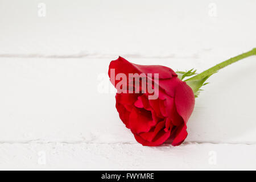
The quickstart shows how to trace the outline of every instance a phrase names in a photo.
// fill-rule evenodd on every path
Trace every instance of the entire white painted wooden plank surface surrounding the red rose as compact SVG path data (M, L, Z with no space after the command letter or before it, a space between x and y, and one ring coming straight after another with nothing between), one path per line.
M119 55L201 72L249 51L255 7L0 0L0 169L256 169L256 56L209 78L177 147L135 141L106 75Z

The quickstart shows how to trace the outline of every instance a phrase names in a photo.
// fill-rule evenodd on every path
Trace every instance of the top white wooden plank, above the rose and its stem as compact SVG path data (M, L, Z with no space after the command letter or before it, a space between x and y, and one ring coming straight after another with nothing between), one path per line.
M46 5L46 16L42 6ZM255 47L255 1L0 2L2 56L178 56ZM41 15L40 14L40 15Z

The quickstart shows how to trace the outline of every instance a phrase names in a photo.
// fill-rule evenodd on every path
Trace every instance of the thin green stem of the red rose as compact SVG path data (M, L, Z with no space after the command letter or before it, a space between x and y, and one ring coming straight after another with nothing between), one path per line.
M220 64L217 64L215 65L214 67L212 68L209 68L207 70L205 70L204 72L196 75L196 76L193 76L191 78L188 78L187 80L185 81L192 81L192 80L201 80L207 76L210 76L212 75L213 73L216 73L218 70L232 64L232 63L235 63L241 59L244 59L246 57L249 57L249 56L253 56L253 55L256 55L256 48L252 49L251 51L248 51L248 52L245 52L245 53L242 53L241 55L238 55L236 57L232 57L226 61L223 61L222 63Z

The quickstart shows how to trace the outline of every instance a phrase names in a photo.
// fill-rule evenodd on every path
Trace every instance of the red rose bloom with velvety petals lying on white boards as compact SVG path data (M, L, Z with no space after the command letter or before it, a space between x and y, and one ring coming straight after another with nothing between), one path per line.
M143 73L147 85L152 82L153 89L158 87L158 97L149 99L154 93L148 92L143 84L131 87L133 82L130 80L122 82L120 86L124 77L121 80L119 73L126 77L129 77L129 73ZM159 79L156 73L159 73ZM119 57L110 63L109 77L118 90L115 106L119 117L139 143L143 146L159 146L170 139L171 144L177 146L185 140L188 135L186 123L193 111L195 96L172 69L160 65L133 64ZM142 78L139 82L142 82ZM133 88L135 93L129 93Z

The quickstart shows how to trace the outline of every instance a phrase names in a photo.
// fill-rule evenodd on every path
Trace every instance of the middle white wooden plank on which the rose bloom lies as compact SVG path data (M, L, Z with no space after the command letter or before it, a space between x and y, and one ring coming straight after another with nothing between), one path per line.
M108 85L113 59L0 59L0 141L136 143ZM199 71L220 61L127 59ZM209 78L188 122L188 142L256 142L255 67L251 57ZM105 83L110 87L99 90Z

